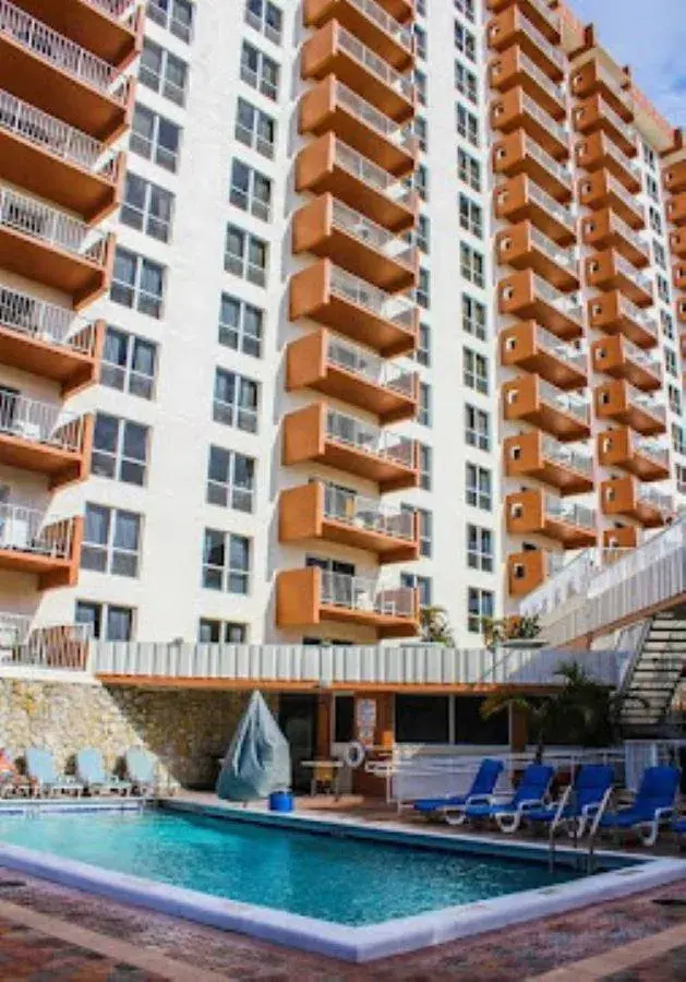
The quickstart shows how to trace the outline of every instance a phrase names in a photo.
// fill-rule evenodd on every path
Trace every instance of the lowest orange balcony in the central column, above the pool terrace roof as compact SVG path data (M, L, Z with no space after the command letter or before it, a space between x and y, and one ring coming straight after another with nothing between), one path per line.
M419 634L419 594L317 566L276 577L276 626L311 628L322 621L373 627L377 638Z

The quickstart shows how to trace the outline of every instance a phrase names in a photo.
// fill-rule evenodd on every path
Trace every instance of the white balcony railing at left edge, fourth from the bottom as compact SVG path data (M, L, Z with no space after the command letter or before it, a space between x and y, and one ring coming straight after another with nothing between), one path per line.
M73 311L64 307L7 287L0 287L0 327L10 327L27 337L60 345L81 355L93 355L95 349L93 324L74 320Z

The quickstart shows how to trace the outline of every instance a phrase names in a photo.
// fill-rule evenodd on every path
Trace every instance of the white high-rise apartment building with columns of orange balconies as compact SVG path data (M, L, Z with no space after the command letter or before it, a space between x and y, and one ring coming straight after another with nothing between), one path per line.
M669 520L686 149L567 9L0 0L0 56L8 630L478 646Z

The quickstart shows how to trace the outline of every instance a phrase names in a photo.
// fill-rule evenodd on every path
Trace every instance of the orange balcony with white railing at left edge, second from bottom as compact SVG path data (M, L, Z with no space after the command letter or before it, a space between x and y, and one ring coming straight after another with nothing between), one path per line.
M37 576L39 590L76 585L82 518L50 523L16 504L0 504L0 570Z

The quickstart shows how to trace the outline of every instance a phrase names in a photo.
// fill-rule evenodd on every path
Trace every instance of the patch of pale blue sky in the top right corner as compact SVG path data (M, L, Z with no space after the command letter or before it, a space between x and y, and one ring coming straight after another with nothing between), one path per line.
M686 127L686 0L567 0L639 88L675 127Z

